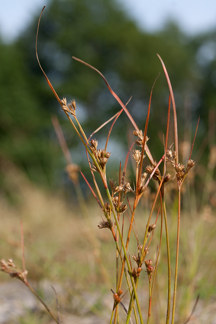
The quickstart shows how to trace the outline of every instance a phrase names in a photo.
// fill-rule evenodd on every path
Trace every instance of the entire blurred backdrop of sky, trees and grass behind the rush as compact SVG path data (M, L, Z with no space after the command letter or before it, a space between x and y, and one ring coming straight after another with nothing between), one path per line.
M65 171L66 161L52 116L60 122L73 162L92 183L85 150L36 60L36 29L43 5L46 8L38 35L40 62L59 98L66 97L68 102L76 99L77 117L87 136L120 107L100 76L72 56L99 69L124 103L132 96L127 107L140 129L144 129L151 87L161 73L153 89L148 128L149 147L156 160L163 154L169 96L156 53L166 65L174 90L180 161L184 164L200 116L192 154L195 170L183 193L179 277L181 287L188 289L179 289L178 310L182 316L179 320L184 321L193 298L200 292L199 320L207 322L208 315L208 322L216 323L216 4L210 0L164 2L154 1L152 5L140 0L14 0L0 5L0 257L12 257L21 266L22 218L30 280L53 304L49 284L59 285L65 316L73 314L77 321L82 316L82 323L91 316L95 316L91 322L100 318L101 323L104 309L108 314L112 309L108 291L115 285L115 247L109 233L97 229L101 212L87 185L79 175L79 191ZM109 127L110 124L95 134L99 147L104 146ZM119 163L125 160L132 131L122 114L108 145L112 152L107 165L109 178L118 179ZM127 177L132 181L132 168ZM153 190L151 184L146 194L149 203L143 202L146 210ZM81 191L87 210L80 210ZM174 227L176 202L172 197L169 192L170 224ZM141 210L140 214L143 215ZM141 218L143 230L145 222ZM171 233L172 239L175 245L175 232ZM158 271L166 272L166 268ZM0 274L1 282L7 279L4 273ZM12 284L12 289L14 280L6 283ZM160 284L159 281L158 291L166 289ZM9 291L7 286L5 289ZM10 301L12 295L8 296ZM188 301L188 307L183 306L183 300ZM13 312L11 307L8 310L5 297L0 323L4 316L13 323L14 318L18 323L38 323L38 313L42 323L48 322L34 301L27 309L26 304L16 307L16 302L15 299L12 309L20 313L14 311L13 319L8 319L4 314ZM158 323L165 309L163 304L162 299L161 308L155 310Z

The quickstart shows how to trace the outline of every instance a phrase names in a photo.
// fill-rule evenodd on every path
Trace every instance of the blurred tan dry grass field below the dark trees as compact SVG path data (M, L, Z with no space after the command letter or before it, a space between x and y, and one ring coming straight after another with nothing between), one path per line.
M26 268L28 278L46 302L55 308L55 298L50 287L53 284L58 292L60 311L64 314L65 323L74 320L85 323L85 318L97 323L97 320L108 321L108 314L112 309L113 297L110 288L114 283L114 250L108 230L99 230L100 211L94 203L90 203L91 227L79 212L78 206L71 209L63 195L44 192L35 187L27 177L8 161L2 164L4 185L7 188L7 197L1 197L1 257L11 257L15 264L21 267L20 225L22 218L25 236ZM148 192L147 192L148 194ZM150 194L150 192L149 192ZM150 199L150 195L149 195ZM73 212L72 212L73 210ZM145 224L141 217L137 217L138 232L144 230ZM201 298L191 323L214 323L216 317L215 271L216 267L215 244L216 226L215 216L210 206L203 208L200 214L192 211L183 211L180 241L180 268L178 282L177 314L179 323L182 323L190 313L194 296L200 292ZM169 216L170 244L176 244L176 218L172 212ZM92 231L98 237L98 247L92 247ZM155 231L154 242L158 242L158 233ZM136 241L133 243L136 246ZM162 247L163 250L163 247ZM101 253L100 253L101 251ZM98 267L98 257L106 268L106 280ZM166 269L166 255L161 254L158 278L164 276ZM174 261L174 256L173 256ZM142 285L148 281L148 276L142 276ZM208 279L208 280L207 280ZM14 281L15 279L13 279ZM10 284L9 290L14 295L16 284L11 282L4 273L0 274L0 281ZM21 283L20 283L21 284ZM141 283L140 283L141 284ZM3 286L2 286L3 287ZM3 288L2 288L3 289ZM27 288L19 287L19 290ZM153 303L153 319L163 323L164 307L166 307L166 280L156 280L154 294L159 303ZM125 286L126 290L126 286ZM128 294L128 293L127 293ZM129 295L124 297L128 304ZM143 305L148 302L148 291L142 290ZM18 297L20 298L20 296ZM28 297L29 298L29 297ZM90 303L90 300L92 303ZM18 323L48 323L50 318L45 315L40 303L35 302L37 312L32 313L24 308L25 316L17 317ZM36 306L35 306L36 305ZM20 309L22 307L20 306ZM38 315L42 316L38 321ZM20 319L22 318L22 319ZM176 318L178 323L178 317ZM13 322L14 323L14 322ZM88 323L88 321L86 322Z

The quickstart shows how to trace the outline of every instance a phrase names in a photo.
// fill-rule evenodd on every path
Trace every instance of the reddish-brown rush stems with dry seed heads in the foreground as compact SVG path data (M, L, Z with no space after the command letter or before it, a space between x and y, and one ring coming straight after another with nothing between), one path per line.
M44 8L43 8L44 9ZM43 10L42 10L43 11ZM40 17L41 18L41 17ZM40 19L39 19L40 22ZM39 27L39 24L38 24ZM37 32L38 35L38 32ZM37 53L37 39L36 39L36 53ZM158 54L157 54L158 55ZM134 119L132 118L130 112L126 108L126 105L120 100L120 98L114 93L111 86L102 75L100 71L98 71L95 67L83 62L82 60L73 57L77 62L85 64L87 67L91 68L94 72L98 73L106 86L108 87L110 93L114 96L114 98L119 103L121 109L109 120L113 120L113 123L110 127L110 130L107 135L106 144L103 148L98 148L98 143L100 143L100 138L96 139L92 136L97 133L99 129L102 128L107 122L105 122L99 129L97 129L93 134L88 136L85 134L81 124L79 123L76 116L76 102L72 100L67 103L66 98L60 99L55 92L53 86L51 85L48 77L43 71L37 54L38 63L42 69L42 72L54 93L54 96L58 100L61 109L66 114L73 131L77 134L79 140L82 145L84 145L87 154L87 162L89 164L89 170L92 175L94 189L90 185L90 183L86 180L85 176L82 174L83 178L87 182L92 194L94 195L99 208L102 211L103 217L100 221L98 228L101 230L109 230L110 235L114 239L114 244L116 246L116 288L115 292L113 291L113 309L110 316L110 324L112 322L122 323L120 318L119 307L123 306L127 316L126 316L126 324L131 321L131 314L133 312L133 316L135 318L136 323L150 323L151 317L151 303L152 296L154 291L155 278L157 276L157 267L159 265L159 256L161 252L162 246L162 225L165 224L165 240L166 240L166 250L167 250L167 281L168 281L168 293L167 293L167 309L166 309L166 318L164 318L164 323L168 324L174 323L175 316L175 305L176 305L176 288L177 288L177 274L178 274L178 256L179 256L179 238L180 238L180 215L181 215L181 189L184 183L184 180L188 174L188 172L193 168L194 161L191 159L193 144L191 145L191 152L188 156L188 161L186 165L184 162L179 161L179 152L178 152L178 131L177 131L177 117L176 117L176 109L175 109L175 101L173 90L171 86L171 82L166 70L166 67L162 61L160 55L158 55L159 60L161 61L166 80L169 87L169 101L168 101L168 109L167 109L167 125L166 125L166 134L164 136L164 154L161 156L159 161L155 161L153 158L153 153L151 152L147 142L148 142L148 124L150 118L150 104L151 104L151 96L152 90L150 93L148 114L145 125L143 125L143 129L140 129ZM92 72L93 73L93 72ZM156 81L156 80L155 80ZM154 85L153 85L154 86ZM169 133L170 133L170 115L171 115L171 102L173 108L173 116L174 116L174 143L170 143ZM120 163L119 168L119 177L118 179L109 179L109 175L106 173L106 164L109 163L109 157L111 153L107 151L108 141L112 132L112 129L115 125L115 121L119 118L121 113L126 113L129 121L133 125L134 131L134 143L131 145L128 153L126 155L125 164L122 167ZM197 131L196 131L197 132ZM173 134L172 134L173 135ZM195 134L196 136L196 134ZM194 136L194 140L195 140ZM133 183L128 182L126 179L126 169L128 165L129 155L133 156L134 165L135 165L135 177L133 179ZM144 167L145 161L148 160L149 164ZM173 168L174 176L171 178L170 173L167 173L167 164L170 164ZM103 190L106 193L106 199L104 199L104 192L101 192L99 189L98 182L95 177L95 172L99 173L100 180L103 184ZM178 206L176 209L176 219L177 219L177 237L176 237L176 261L174 269L171 269L171 253L170 253L170 244L169 244L169 227L167 222L167 212L166 212L166 203L164 198L164 192L166 191L166 186L169 185L171 181L174 181L176 184L176 192L177 192L177 200ZM143 236L140 237L138 235L135 223L135 216L137 212L138 204L140 203L140 199L143 195L145 195L145 191L149 185L150 181L155 181L157 183L157 191L155 192L155 196L153 199L153 203L150 209L150 213L148 215L144 215L143 222L145 222L146 229L143 233ZM133 201L129 201L127 194L131 193L133 195ZM153 219L154 211L156 203L160 202L160 208L156 212L156 217ZM124 217L129 219L128 228L124 227ZM126 233L126 239L123 236L123 228L124 233ZM148 257L151 251L151 242L154 231L160 230L160 240L158 243L158 247L153 247L154 250L157 250L156 260L153 261L152 258ZM137 242L137 250L131 250L130 242L131 237L134 236ZM133 259L133 260L132 260ZM135 261L135 262L134 262ZM134 265L132 266L132 262ZM13 267L15 270L10 271L10 268ZM24 272L18 271L13 264L12 260L2 260L2 271L10 273L10 275L18 277L24 284L28 285L26 279L26 270ZM141 304L139 298L139 279L140 276L144 273L148 275L149 281L149 304L147 306L147 318L143 317L143 309L144 305ZM174 276L172 276L174 274ZM129 305L126 307L124 305L123 300L123 278L125 277L130 300ZM174 279L174 283L171 285L171 278ZM173 288L172 288L173 287ZM172 289L171 289L172 288ZM156 298L156 296L155 296ZM172 303L171 303L172 301ZM46 307L49 311L48 307ZM53 318L54 315L52 314ZM59 319L54 318L57 323L59 323Z

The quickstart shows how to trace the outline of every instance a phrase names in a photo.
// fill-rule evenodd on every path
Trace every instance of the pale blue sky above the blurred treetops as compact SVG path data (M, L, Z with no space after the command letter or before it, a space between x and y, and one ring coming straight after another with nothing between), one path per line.
M91 1L91 0L89 0ZM101 0L106 1L106 0ZM216 0L117 0L140 28L160 29L167 18L177 21L189 34L216 28ZM49 0L7 0L0 4L0 33L4 41L13 40L31 20L39 16Z

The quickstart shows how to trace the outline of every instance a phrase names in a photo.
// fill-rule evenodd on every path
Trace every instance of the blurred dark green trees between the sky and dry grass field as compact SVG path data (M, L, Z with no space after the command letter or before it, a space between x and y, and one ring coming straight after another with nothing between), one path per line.
M50 114L56 113L61 119L73 153L77 152L79 143L74 140L72 129L36 61L38 17L15 44L1 44L0 55L4 62L0 67L4 107L1 145L2 154L24 166L32 179L40 180L45 173L45 179L53 184L58 178L54 170L63 168L64 160L57 157L61 153ZM207 131L206 116L209 106L215 102L215 87L214 77L209 81L212 87L206 83L206 78L212 73L212 67L215 71L215 58L207 62L203 73L198 53L205 41L205 35L200 38L186 36L173 22L168 22L163 30L154 34L141 31L114 0L53 0L42 15L38 55L59 97L66 97L67 101L76 99L77 115L87 134L120 107L100 76L73 61L72 55L99 69L123 102L132 96L128 109L140 129L144 129L151 87L161 72L153 90L148 130L149 146L158 147L154 156L158 159L163 153L162 134L165 133L169 90L156 53L162 57L174 89L180 133L190 128L190 120L194 131L203 101L206 111L201 113L201 125ZM133 131L128 125L129 121L122 113L112 134L119 155L127 148L127 132ZM95 135L101 139L100 147L108 129L109 125L106 125L104 132ZM188 134L191 136L190 132ZM114 150L112 142L109 150ZM81 163L82 156L78 152L73 156L76 163Z

